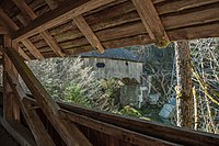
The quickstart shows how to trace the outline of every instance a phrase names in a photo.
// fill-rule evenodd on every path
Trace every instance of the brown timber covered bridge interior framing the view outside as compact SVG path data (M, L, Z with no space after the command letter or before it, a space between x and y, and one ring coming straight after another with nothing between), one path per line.
M219 0L0 0L0 121L20 145L219 145L217 135L55 102L24 61L218 37Z

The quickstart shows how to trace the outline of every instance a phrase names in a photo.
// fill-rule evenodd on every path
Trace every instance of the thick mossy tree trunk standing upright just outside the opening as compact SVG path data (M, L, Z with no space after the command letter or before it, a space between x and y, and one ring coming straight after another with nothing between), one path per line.
M191 52L187 41L175 43L177 126L193 128L193 87Z

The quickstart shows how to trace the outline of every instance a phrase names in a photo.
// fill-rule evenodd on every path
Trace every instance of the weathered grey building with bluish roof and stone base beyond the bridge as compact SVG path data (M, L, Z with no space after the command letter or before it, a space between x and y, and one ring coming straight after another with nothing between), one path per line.
M140 108L141 75L143 61L139 55L124 48L106 49L105 53L90 52L81 54L84 66L91 66L99 79L120 79L120 96L117 99L122 106L131 104Z

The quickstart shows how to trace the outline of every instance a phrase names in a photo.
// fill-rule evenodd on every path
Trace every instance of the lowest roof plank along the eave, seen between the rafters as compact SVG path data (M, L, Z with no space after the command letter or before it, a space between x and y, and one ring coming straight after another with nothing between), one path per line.
M200 31L201 30L201 31ZM217 37L218 32L215 30L219 30L219 22L204 24L204 25L195 25L189 27L182 27L177 30L168 31L169 37L172 41L178 40L195 40L201 37ZM107 32L103 32L107 34ZM105 37L105 36L104 36ZM79 41L72 41L74 46L70 46L65 49L65 52L69 54L79 54L93 50L92 46L85 43L80 43ZM102 41L102 44L105 48L117 48L124 46L134 46L134 45L146 45L151 44L152 40L148 34L139 34L124 38L111 40L111 41ZM43 50L44 48L42 48ZM44 55L46 57L53 57L51 52L45 52Z

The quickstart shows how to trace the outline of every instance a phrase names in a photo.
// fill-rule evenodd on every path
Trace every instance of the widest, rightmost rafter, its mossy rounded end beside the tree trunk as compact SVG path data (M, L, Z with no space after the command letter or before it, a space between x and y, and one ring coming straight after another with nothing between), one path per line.
M153 42L159 47L169 45L170 40L166 35L165 29L159 18L159 14L151 0L131 0L136 7L140 19Z

